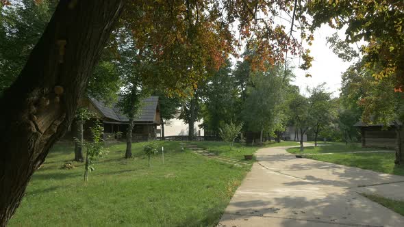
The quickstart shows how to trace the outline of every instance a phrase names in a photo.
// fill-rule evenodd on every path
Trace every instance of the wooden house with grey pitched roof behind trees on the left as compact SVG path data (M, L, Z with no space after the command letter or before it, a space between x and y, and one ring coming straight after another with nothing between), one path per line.
M86 107L95 116L84 124L84 137L86 139L91 137L89 128L97 120L103 123L105 140L121 139L121 137L125 139L129 119L118 109L116 103L105 105L103 101L98 101L95 98L83 98L79 103L79 107ZM140 113L134 120L133 141L144 141L155 138L157 125L160 125L158 96L144 98ZM66 133L66 137L75 137L76 131L75 122L73 122L71 129Z

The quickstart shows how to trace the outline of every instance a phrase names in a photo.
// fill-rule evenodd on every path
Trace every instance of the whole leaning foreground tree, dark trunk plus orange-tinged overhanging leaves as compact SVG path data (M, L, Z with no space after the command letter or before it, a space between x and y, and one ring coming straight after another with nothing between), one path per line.
M170 63L164 67L171 72L165 79L171 90L198 81L194 72L223 64L236 44L234 21L240 22L242 39L259 37L255 64L260 57L276 61L286 51L296 55L303 51L284 27L275 25L281 12L300 12L289 1L135 1L125 8L124 2L59 1L23 70L3 92L0 105L9 110L0 114L0 142L5 144L0 159L1 225L14 213L49 148L71 124L77 101L123 9L122 21L131 25L136 43L143 46L144 39L153 38L149 46L154 61ZM0 1L1 10L9 3L14 1Z

